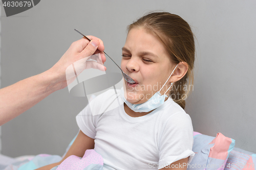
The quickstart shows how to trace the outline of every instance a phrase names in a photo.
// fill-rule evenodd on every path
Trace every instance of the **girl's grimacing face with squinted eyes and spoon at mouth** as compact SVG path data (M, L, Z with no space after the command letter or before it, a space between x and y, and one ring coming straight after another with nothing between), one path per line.
M124 81L127 101L141 104L149 100L161 89L175 66L163 44L154 35L143 28L130 30L122 48L121 68L136 84ZM161 94L168 89L171 80L172 77L160 91Z

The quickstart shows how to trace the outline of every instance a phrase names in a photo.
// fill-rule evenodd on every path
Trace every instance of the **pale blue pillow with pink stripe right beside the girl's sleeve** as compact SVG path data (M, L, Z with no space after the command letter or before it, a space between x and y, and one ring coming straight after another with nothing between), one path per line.
M218 133L216 137L194 132L193 151L195 156L187 169L223 170L227 158L234 148L235 140Z

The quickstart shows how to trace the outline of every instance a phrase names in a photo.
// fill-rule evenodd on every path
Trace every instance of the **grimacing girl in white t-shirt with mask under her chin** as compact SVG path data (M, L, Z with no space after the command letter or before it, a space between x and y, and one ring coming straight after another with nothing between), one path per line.
M191 119L183 110L193 82L194 36L186 21L168 12L149 13L128 27L121 68L120 106L105 110L113 90L97 96L76 117L78 136L66 156L94 149L103 169L186 169L195 153ZM90 109L91 108L91 109ZM103 109L102 109L103 108Z

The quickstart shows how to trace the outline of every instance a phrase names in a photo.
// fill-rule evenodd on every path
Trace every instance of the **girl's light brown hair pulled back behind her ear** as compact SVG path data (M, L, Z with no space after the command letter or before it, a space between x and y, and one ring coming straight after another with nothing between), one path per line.
M142 27L156 36L163 43L174 63L187 63L186 75L174 83L175 88L169 93L169 96L184 109L185 99L190 93L190 86L194 83L195 42L190 26L178 15L169 12L151 12L133 22L127 30L129 32L136 27Z

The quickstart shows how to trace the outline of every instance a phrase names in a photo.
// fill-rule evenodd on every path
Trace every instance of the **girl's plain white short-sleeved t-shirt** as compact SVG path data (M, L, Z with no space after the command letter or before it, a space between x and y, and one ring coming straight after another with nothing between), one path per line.
M80 130L95 139L103 169L161 169L186 157L191 161L193 126L178 104L168 98L151 113L131 117L120 90L117 94L108 90L98 95L76 116ZM114 102L118 105L109 109Z

